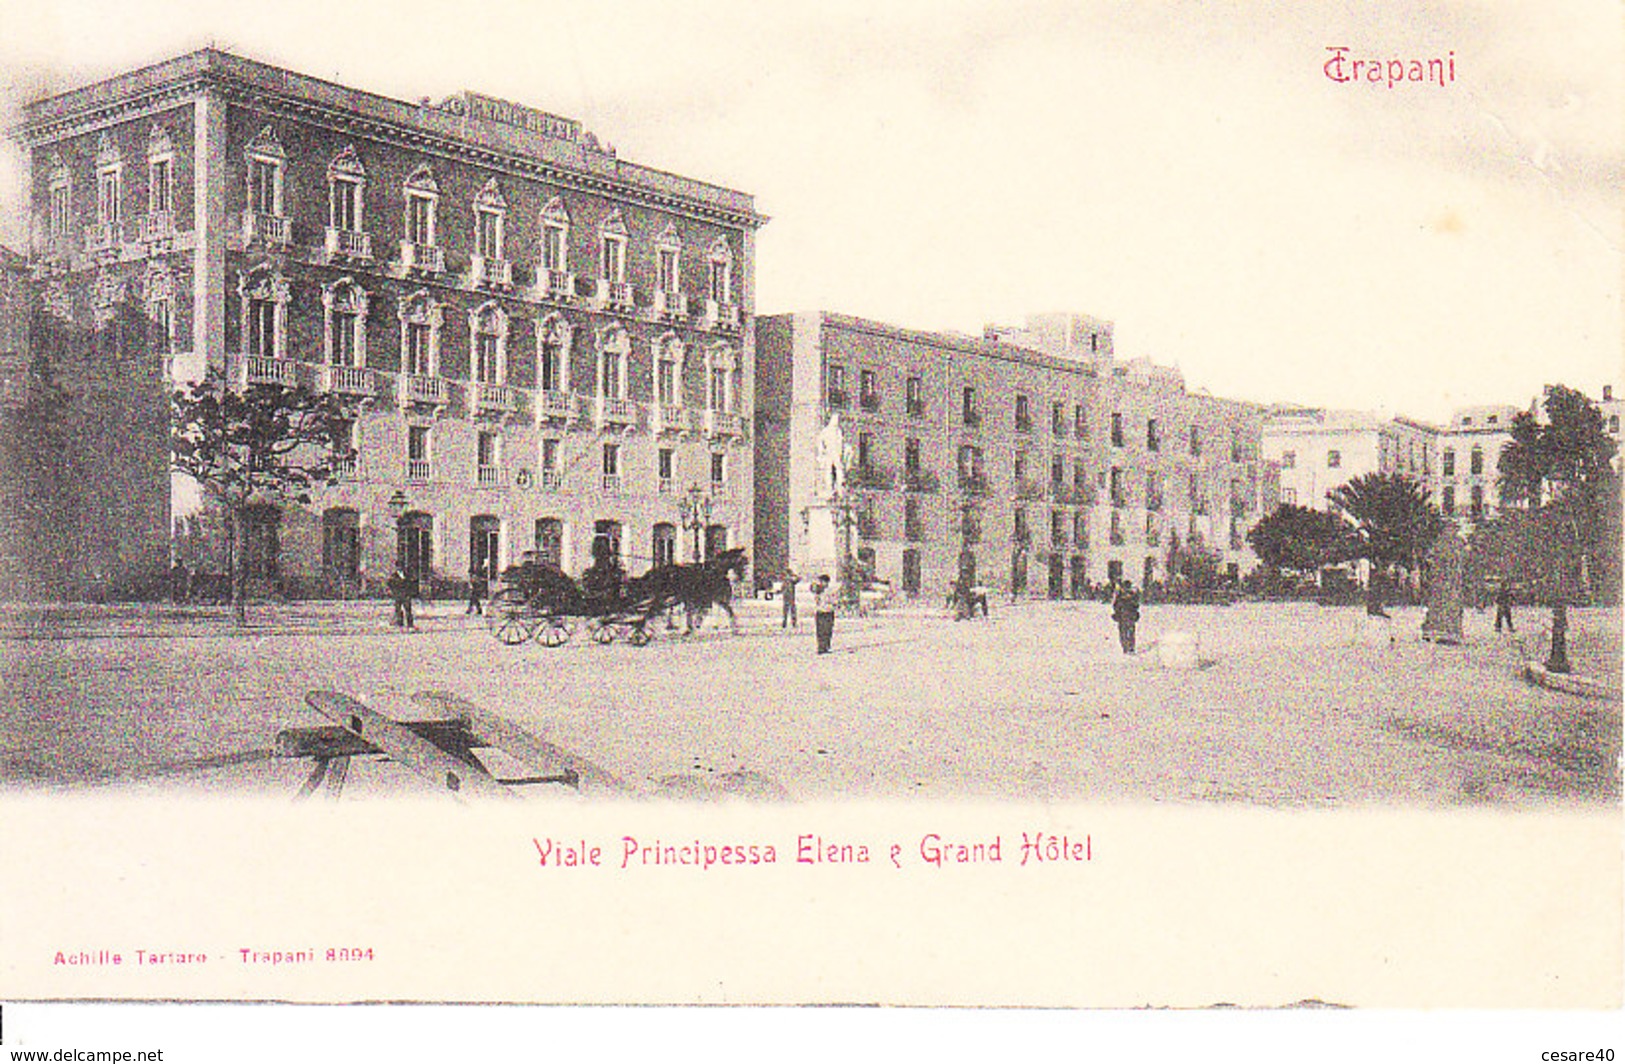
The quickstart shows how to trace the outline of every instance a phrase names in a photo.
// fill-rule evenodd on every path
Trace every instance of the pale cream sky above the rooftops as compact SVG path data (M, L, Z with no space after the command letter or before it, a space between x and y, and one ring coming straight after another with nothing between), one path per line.
M1074 310L1193 388L1430 421L1625 382L1617 0L0 0L0 122L205 44L749 192L759 314ZM1454 78L1339 83L1332 47Z

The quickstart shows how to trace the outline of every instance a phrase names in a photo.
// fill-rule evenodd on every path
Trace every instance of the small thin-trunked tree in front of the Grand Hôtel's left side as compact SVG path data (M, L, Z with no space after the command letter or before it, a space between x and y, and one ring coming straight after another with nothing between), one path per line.
M348 427L354 404L304 387L232 388L211 365L202 383L171 395L172 460L226 513L231 608L247 624L244 517L263 502L310 502L310 489L338 479L354 456Z

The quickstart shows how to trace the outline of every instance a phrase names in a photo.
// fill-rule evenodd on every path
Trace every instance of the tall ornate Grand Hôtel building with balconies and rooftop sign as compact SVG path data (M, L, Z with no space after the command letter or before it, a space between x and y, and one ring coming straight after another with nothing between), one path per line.
M523 549L578 572L595 539L637 572L751 543L749 195L518 104L216 50L37 101L23 138L42 320L93 338L63 367L102 382L86 421L205 367L359 401L343 481L250 515L254 575L375 580L396 549L453 580ZM138 341L110 330L132 314ZM104 445L80 564L117 582L208 517L146 453L162 432Z

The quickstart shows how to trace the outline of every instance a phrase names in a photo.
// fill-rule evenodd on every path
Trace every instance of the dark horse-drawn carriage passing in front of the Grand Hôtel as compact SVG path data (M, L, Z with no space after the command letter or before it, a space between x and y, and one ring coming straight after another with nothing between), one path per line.
M580 583L556 565L526 556L502 573L502 586L491 596L486 621L505 645L535 638L543 647L562 647L578 629L595 643L624 638L647 645L652 622L682 609L686 630L692 632L712 606L720 606L730 624L733 580L743 578L744 547L722 551L705 562L655 565L627 578L619 564L600 559L582 573Z

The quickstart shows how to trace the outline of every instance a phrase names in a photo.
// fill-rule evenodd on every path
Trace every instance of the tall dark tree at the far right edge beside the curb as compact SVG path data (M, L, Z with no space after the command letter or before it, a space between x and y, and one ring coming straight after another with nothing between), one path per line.
M1524 573L1552 608L1545 668L1568 673L1568 604L1599 590L1618 595L1617 447L1596 404L1563 385L1545 390L1544 419L1519 413L1511 437L1498 466L1500 569L1506 577Z

